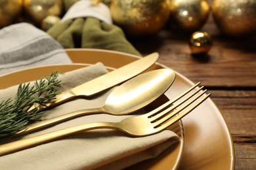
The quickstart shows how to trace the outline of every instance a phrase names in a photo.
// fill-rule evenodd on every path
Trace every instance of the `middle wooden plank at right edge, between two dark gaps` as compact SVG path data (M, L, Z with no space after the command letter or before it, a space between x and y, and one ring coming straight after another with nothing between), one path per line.
M232 135L256 137L256 91L209 90L209 92L211 99L228 122Z

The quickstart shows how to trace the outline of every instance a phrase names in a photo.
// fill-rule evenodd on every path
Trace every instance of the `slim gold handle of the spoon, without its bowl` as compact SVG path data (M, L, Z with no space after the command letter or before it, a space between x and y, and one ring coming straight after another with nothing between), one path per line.
M60 116L56 116L54 118L49 118L47 120L42 120L40 122L30 124L28 127L26 127L26 129L24 129L22 131L18 131L17 133L12 135L12 137L16 137L18 135L24 135L26 133L35 131L37 129L42 129L43 127L48 127L48 126L51 126L51 125L54 125L54 124L58 124L60 122L64 122L66 120L77 118L79 116L84 116L84 115L87 115L87 114L95 114L95 113L98 113L98 112L102 112L100 110L100 108L83 109L83 110L77 110L77 111L74 111L74 112L63 114L63 115L60 115Z

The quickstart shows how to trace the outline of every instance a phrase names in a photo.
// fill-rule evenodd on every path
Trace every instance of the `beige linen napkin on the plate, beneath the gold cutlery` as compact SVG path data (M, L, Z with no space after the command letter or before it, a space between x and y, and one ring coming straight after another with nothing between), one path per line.
M65 73L60 75L62 89L73 88L104 73L106 73L106 69L101 63ZM10 97L10 94L14 95L16 88L17 86L12 86L11 88L0 90L0 99L6 99ZM49 110L46 118L74 110L101 107L110 92L111 90L108 90L95 97L75 99L64 103ZM135 114L143 112L139 111ZM89 122L117 122L127 117L108 114L83 116L25 137L32 137L33 135ZM1 156L0 169L123 169L139 161L158 156L163 150L177 141L179 141L179 137L169 130L148 137L131 137L112 129L97 129ZM3 139L0 139L0 142L3 143Z

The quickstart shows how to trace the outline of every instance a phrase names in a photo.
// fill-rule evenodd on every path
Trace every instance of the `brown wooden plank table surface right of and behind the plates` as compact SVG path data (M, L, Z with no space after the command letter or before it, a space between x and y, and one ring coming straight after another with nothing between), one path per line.
M190 35L163 29L157 37L130 40L142 55L158 52L159 63L193 82L202 82L230 128L235 169L256 169L256 37L232 39L219 33L212 16L202 31L213 38L207 56L191 56Z

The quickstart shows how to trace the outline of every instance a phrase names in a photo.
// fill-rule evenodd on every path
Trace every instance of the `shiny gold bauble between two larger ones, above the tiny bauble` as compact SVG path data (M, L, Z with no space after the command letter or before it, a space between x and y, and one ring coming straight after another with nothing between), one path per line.
M209 16L207 0L170 0L169 24L173 29L194 32L198 31Z

